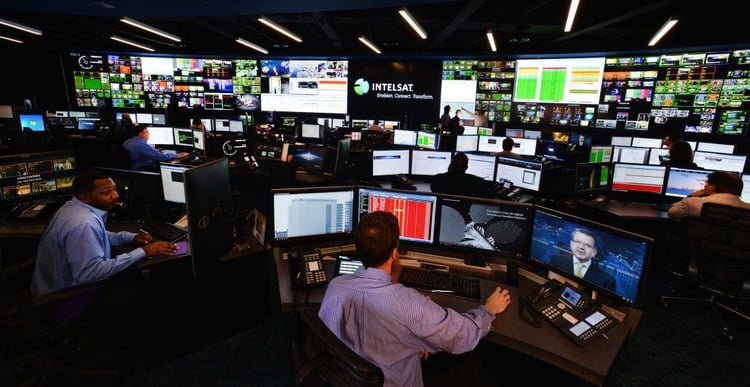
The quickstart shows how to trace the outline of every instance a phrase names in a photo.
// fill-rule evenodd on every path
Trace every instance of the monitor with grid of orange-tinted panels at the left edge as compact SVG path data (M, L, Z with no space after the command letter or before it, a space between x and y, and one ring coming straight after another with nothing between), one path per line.
M0 157L0 203L72 194L78 176L75 150L23 153Z

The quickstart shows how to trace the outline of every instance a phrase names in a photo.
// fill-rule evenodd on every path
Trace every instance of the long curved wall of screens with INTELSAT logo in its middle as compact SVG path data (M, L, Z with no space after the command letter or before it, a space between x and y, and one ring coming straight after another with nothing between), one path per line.
M750 49L411 61L71 53L67 66L78 107L201 106L351 117L391 113L399 119L422 114L436 124L449 105L451 114L461 109L459 116L467 125L476 114L484 114L500 127L528 124L736 136L747 133L750 115L749 56Z

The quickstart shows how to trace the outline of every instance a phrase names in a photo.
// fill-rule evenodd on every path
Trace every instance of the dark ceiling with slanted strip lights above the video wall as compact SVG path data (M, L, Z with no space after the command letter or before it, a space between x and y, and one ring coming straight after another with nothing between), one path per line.
M722 2L730 3L730 2ZM733 3L733 2L732 2ZM4 0L0 18L43 31L35 36L0 26L28 50L143 52L111 40L119 35L156 49L155 54L259 56L237 37L265 47L273 57L372 57L366 36L383 57L534 56L570 53L653 52L670 48L747 48L750 23L740 8L705 0L582 0L573 31L563 32L567 0ZM420 39L398 15L406 6L427 32ZM257 21L265 15L301 36L294 42ZM128 16L178 35L180 43L119 21ZM670 16L680 22L653 49L654 32ZM499 45L489 50L492 29ZM3 46L15 43L0 40ZM739 46L738 46L739 45Z

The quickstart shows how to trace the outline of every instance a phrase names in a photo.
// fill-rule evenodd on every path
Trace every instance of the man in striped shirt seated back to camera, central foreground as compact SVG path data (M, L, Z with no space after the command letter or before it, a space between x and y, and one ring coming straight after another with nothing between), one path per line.
M319 315L342 342L383 370L385 386L419 387L424 384L420 358L474 349L510 303L510 294L498 287L484 305L465 313L442 307L397 282L398 241L393 214L363 216L355 234L363 266L330 281Z

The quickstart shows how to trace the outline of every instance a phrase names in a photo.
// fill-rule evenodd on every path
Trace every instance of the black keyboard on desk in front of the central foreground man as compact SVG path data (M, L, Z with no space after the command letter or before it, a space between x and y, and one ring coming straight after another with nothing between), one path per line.
M479 279L456 273L404 266L399 282L405 286L479 301Z

